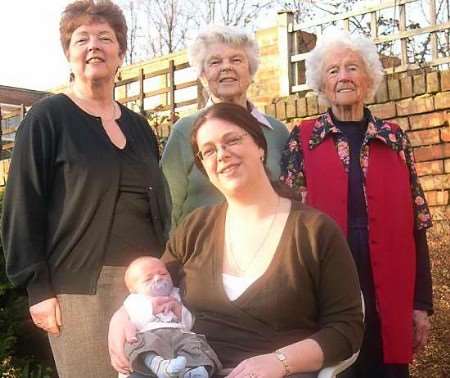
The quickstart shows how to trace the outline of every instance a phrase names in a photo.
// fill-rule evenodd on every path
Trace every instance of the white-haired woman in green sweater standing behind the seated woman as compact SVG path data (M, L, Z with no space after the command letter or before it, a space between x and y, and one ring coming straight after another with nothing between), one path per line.
M213 25L190 46L189 62L209 94L206 107L220 102L238 104L259 121L268 144L267 167L272 179L278 180L281 152L289 132L281 122L262 114L247 98L259 64L256 41L238 29ZM202 112L184 117L174 125L162 155L161 166L172 197L172 227L192 210L224 200L194 164L191 131Z

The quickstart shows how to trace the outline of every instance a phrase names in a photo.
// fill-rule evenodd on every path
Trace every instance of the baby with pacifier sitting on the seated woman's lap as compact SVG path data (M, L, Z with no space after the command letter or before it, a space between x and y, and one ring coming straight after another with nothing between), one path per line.
M158 378L207 378L220 369L202 335L190 332L193 317L162 261L139 257L125 273L130 295L124 308L137 329L125 351L134 371Z

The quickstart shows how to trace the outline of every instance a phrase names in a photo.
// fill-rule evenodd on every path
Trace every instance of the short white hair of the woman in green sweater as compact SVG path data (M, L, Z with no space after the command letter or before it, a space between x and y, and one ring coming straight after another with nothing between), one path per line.
M188 50L189 64L195 68L197 77L203 73L209 47L216 43L243 49L247 55L250 75L255 75L259 66L259 48L255 38L231 26L209 25L197 35Z

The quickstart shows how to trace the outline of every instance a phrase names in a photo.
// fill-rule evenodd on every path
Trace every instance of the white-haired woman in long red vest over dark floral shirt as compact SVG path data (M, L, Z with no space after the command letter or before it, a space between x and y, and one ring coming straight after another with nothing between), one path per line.
M281 180L333 217L347 235L366 304L357 377L408 377L430 329L431 217L410 142L365 102L383 77L376 46L333 30L306 61L307 84L329 105L294 127Z

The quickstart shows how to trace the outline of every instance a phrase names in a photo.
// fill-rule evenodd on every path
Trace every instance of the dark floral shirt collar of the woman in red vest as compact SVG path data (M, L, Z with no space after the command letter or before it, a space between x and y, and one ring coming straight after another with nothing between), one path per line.
M364 108L364 114L368 119L368 124L363 145L367 144L372 139L378 139L391 147L394 151L400 151L402 149L402 141L398 135L399 128L395 127L394 129L392 123L383 121L373 116L367 108ZM312 150L318 146L328 135L331 134L342 135L342 132L333 123L331 109L328 109L326 113L317 118L314 124L311 138L309 140L309 149Z

